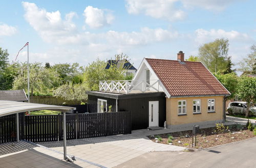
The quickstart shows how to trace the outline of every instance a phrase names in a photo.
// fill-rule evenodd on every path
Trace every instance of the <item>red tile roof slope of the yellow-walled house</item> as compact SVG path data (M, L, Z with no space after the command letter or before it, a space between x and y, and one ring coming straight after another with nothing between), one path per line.
M146 59L170 96L226 95L229 92L200 62Z

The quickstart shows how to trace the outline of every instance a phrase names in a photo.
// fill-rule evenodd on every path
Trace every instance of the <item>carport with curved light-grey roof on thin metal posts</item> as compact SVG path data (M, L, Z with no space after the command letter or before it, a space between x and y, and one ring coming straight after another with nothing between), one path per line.
M66 113L73 113L75 107L48 105L48 104L36 104L27 102L7 101L0 100L0 117L16 114L16 139L19 143L19 113L26 111L36 111L42 109L50 109L55 111L61 111L63 114L63 153L64 160L69 159L67 157L67 135L66 135Z

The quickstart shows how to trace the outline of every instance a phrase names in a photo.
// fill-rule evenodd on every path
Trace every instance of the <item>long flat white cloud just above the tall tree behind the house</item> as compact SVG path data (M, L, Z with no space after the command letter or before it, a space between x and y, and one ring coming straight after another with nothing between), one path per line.
M198 29L195 31L195 41L202 44L205 42L213 41L217 38L227 38L230 41L251 41L251 38L246 33L239 33L237 31L226 32L225 30L211 29L209 31Z

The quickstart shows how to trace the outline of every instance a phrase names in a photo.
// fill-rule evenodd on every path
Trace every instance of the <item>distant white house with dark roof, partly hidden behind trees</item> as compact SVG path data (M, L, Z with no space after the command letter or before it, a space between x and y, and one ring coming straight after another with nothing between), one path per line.
M137 69L126 59L123 60L119 60L119 58L117 58L117 60L109 60L108 64L106 64L106 68L105 69L109 69L111 65L117 65L117 67L119 66L123 66L123 68L126 70L125 75L134 75L137 71Z

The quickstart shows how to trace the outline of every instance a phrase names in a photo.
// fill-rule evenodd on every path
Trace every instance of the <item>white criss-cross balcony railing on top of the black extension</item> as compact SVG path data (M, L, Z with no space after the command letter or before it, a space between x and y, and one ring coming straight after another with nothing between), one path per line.
M159 92L159 80L110 80L100 81L99 91L112 93Z

